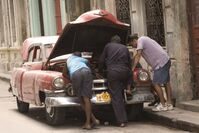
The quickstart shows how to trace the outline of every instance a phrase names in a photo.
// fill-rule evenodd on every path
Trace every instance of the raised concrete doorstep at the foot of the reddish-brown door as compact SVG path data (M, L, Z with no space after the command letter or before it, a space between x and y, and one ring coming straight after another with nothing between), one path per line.
M199 100L178 103L178 108L199 113Z

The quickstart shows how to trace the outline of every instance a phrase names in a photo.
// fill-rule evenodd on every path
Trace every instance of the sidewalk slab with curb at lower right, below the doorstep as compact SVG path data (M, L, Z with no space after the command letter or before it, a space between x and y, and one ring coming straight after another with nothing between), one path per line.
M174 108L172 111L153 112L144 108L145 116L151 121L194 133L199 132L199 113Z

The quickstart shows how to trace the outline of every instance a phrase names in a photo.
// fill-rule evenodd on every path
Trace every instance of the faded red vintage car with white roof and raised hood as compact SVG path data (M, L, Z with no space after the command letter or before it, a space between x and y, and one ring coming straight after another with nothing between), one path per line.
M68 23L60 36L26 39L23 64L14 68L10 81L19 112L28 112L29 104L45 106L47 122L59 125L64 123L67 107L80 106L70 79L62 76L66 60L74 51L81 51L91 63L94 107L111 106L106 77L99 73L98 60L113 35L119 35L122 44L126 44L128 32L128 24L105 10L93 10ZM142 111L144 102L154 100L146 70L136 68L132 80L132 96L124 93L129 119Z

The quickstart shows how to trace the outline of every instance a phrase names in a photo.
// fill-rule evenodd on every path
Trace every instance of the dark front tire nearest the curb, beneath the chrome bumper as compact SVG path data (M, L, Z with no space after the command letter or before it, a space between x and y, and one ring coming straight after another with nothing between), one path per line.
M128 121L135 121L141 119L143 116L143 103L136 103L127 105Z

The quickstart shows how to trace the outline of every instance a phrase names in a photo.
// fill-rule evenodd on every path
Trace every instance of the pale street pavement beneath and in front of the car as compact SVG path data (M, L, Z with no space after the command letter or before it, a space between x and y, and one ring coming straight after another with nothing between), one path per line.
M7 76L9 77L9 76ZM21 114L17 111L15 98L11 93L8 93L9 78L0 80L0 132L2 133L67 133L67 132L88 132L81 129L83 120L78 112L69 112L67 121L63 126L53 127L45 122L45 114L43 108L31 106L28 114ZM6 82L5 82L6 81ZM73 114L71 114L73 113ZM160 112L161 113L161 112ZM103 116L102 116L103 117ZM156 118L157 119L157 118ZM161 123L152 122L153 120L140 120L129 122L127 127L119 128L112 123L104 125L103 123L89 132L95 133L188 133L178 129L162 126Z

